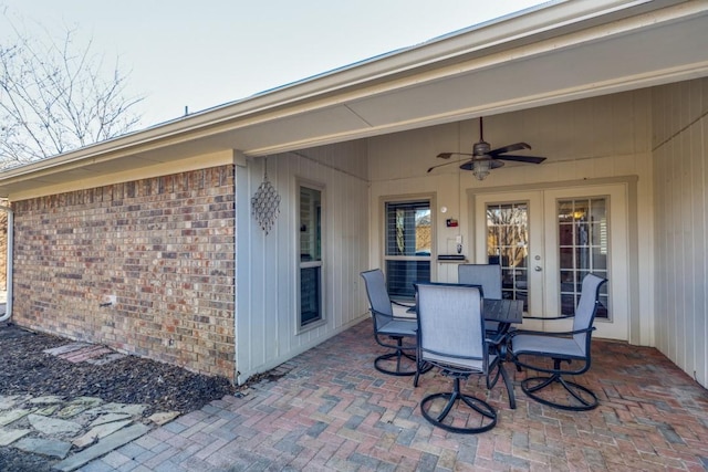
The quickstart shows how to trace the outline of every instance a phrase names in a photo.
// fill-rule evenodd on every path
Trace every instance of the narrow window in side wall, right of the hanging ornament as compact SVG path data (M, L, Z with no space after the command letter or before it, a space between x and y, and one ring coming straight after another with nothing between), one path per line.
M317 325L322 313L322 191L300 187L300 316L299 327Z

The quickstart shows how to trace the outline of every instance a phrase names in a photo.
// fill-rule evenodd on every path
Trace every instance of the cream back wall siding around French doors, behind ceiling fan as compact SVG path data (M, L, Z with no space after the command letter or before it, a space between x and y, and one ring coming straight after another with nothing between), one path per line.
M478 120L466 120L430 128L397 133L369 139L371 179L371 265L382 264L382 206L385 196L433 192L436 249L449 253L455 237L462 235L464 253L471 256L471 210L468 192L493 188L523 189L528 186L579 182L585 179L606 179L637 176L633 196L631 221L635 235L637 268L631 274L632 293L652 293L653 286L653 177L650 151L649 90L639 90L596 98L550 105L522 112L485 117L485 140L492 148L527 141L530 155L548 158L541 165L507 162L482 181L471 172L459 171L457 165L426 170L442 164L436 159L440 151L471 153L479 140ZM521 153L519 153L521 154ZM445 220L456 218L458 228L447 228ZM434 264L433 277L455 281L457 268L449 263ZM648 291L648 292L647 292ZM631 340L639 345L654 344L654 303L650 296L632 300L633 329Z

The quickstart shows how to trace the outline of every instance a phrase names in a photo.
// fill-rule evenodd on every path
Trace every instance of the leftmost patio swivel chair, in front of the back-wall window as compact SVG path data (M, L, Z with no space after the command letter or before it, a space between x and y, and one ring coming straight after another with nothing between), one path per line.
M416 321L394 316L394 305L410 308L394 302L388 296L386 281L381 269L361 273L366 285L372 319L374 321L374 338L381 346L393 349L393 353L383 354L374 360L376 370L393 376L413 376L418 371L416 367ZM385 340L391 339L389 342ZM407 344L404 344L407 339Z

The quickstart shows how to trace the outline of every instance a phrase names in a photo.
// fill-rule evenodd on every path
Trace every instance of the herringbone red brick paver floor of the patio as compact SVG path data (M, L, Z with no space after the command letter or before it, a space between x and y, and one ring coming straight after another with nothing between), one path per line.
M708 391L654 348L593 343L581 384L600 407L570 412L528 399L512 365L517 409L500 381L464 390L499 411L497 427L456 434L423 419L419 401L449 389L430 371L373 368L382 348L363 322L279 368L282 376L226 397L88 463L83 471L702 471Z

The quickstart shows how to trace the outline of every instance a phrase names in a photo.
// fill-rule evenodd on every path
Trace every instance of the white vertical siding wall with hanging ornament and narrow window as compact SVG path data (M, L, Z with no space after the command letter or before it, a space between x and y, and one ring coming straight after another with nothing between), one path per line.
M367 269L366 147L344 143L268 158L280 214L269 234L256 223L251 196L266 160L237 169L236 368L239 381L270 369L367 316L360 272ZM299 182L323 187L323 326L296 334L300 271ZM343 353L345 355L345 353Z

